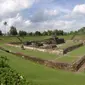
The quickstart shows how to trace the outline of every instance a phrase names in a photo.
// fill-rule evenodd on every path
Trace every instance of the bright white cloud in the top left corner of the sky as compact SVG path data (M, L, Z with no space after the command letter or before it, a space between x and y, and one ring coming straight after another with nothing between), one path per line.
M35 0L0 0L0 15L30 8Z

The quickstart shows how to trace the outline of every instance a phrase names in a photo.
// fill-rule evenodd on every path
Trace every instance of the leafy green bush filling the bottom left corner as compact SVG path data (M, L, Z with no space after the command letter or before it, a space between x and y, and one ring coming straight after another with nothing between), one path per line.
M29 85L22 75L12 70L6 57L0 57L0 85Z

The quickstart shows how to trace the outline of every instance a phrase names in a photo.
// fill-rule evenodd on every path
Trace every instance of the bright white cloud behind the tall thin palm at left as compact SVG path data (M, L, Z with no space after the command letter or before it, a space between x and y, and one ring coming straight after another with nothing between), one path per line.
M19 13L12 18L7 18L4 19L0 22L0 30L2 30L3 32L5 32L5 26L4 26L4 22L7 22L7 31L9 31L11 26L15 26L17 28L17 30L28 30L27 27L29 27L31 25L31 21L30 20L25 20Z

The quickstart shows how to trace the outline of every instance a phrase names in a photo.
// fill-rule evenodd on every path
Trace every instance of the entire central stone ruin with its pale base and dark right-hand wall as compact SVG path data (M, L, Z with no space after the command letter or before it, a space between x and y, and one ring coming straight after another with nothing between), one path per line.
M69 41L69 40L68 40ZM58 38L56 36L52 36L51 38L44 39L41 41L25 41L22 42L10 42L9 45L16 45L22 47L22 50L32 49L42 52L48 52L57 55L67 54L68 52L83 46L82 42L78 42L75 44L72 40L70 42L65 41L63 38Z

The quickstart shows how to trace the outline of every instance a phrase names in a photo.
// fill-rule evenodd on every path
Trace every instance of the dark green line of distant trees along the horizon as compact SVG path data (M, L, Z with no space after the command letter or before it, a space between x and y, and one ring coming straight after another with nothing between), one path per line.
M69 34L84 34L85 33L85 27L82 27L78 31L71 31L71 32L64 32L63 30L48 30L44 32L40 31L35 31L35 32L26 32L23 30L20 30L19 32L17 31L16 27L11 26L9 32L3 34L2 31L0 30L0 35L19 35L19 36L51 36L51 35L69 35Z

